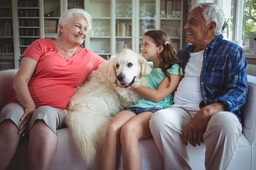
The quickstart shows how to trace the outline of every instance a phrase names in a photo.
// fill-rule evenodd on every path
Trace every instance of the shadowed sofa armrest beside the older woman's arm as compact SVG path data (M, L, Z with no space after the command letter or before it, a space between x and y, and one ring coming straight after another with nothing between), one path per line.
M13 94L12 82L17 69L0 71L0 110L8 102Z

